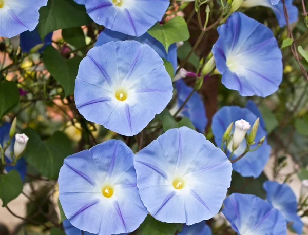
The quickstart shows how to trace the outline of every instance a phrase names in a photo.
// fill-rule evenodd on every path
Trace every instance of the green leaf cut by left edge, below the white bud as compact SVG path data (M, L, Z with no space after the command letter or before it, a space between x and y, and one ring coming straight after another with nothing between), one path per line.
M17 171L11 170L7 174L0 174L0 199L2 206L17 198L23 190L23 182Z

